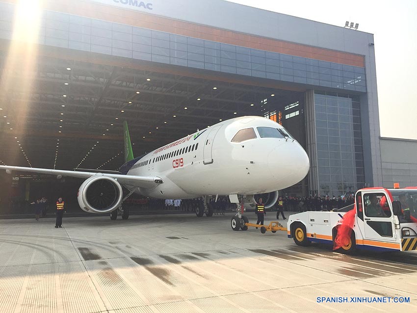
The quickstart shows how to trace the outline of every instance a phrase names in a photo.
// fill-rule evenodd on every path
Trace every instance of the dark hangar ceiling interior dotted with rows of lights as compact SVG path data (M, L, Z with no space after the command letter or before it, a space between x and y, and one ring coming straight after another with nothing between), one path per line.
M50 56L34 58L27 69L7 58L1 51L3 165L115 170L124 162L125 120L139 156L221 119L263 115L267 97L282 106L300 97L271 81L236 83L217 72L217 80L206 79L203 70L197 78Z

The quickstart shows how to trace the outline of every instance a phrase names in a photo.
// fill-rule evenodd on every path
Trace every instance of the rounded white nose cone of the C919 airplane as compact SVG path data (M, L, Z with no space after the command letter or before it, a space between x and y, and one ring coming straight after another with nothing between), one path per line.
M285 180L289 187L306 177L310 160L299 143L288 141L269 153L268 167L275 180Z

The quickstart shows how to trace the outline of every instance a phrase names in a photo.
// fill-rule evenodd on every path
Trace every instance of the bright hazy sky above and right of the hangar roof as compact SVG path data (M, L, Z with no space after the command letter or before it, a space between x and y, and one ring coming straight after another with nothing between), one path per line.
M382 137L417 139L417 0L230 0L374 34Z

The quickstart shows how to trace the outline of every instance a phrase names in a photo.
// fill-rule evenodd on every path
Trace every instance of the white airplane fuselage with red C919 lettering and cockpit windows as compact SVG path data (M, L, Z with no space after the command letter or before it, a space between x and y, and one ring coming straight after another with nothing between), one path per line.
M121 171L127 175L160 177L164 183L134 190L155 198L249 195L281 190L307 175L309 159L290 136L264 137L269 129L286 131L278 123L258 116L224 121L126 163ZM239 130L250 132L252 137L238 142L235 135ZM135 186L127 187L132 190Z

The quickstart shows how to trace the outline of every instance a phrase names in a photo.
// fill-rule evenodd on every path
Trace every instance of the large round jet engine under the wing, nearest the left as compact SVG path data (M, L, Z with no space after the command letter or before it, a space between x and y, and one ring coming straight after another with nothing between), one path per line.
M78 189L78 204L89 213L108 213L122 203L123 189L111 177L97 174L87 179Z

